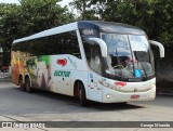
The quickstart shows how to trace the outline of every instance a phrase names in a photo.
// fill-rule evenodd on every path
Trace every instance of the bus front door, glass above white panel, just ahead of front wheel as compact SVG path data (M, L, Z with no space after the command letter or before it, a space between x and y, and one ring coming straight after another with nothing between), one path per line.
M91 45L88 51L89 71L89 97L93 101L102 102L103 86L101 84L102 60L98 45Z

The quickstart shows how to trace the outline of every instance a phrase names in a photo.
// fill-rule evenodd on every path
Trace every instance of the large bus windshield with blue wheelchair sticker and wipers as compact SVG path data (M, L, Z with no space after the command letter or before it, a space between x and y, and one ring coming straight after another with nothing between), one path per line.
M146 36L103 34L108 48L106 73L121 79L154 76L154 60Z

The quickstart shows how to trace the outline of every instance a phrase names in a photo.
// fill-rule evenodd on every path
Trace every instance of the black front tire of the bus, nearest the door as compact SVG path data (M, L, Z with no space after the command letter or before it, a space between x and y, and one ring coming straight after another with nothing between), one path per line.
M88 105L88 100L85 97L85 90L84 90L84 86L82 83L79 83L79 101L80 101L80 105L81 106L86 106Z

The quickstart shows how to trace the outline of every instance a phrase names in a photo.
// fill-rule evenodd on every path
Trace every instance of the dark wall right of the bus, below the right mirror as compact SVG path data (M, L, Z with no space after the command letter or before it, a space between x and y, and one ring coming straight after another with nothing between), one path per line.
M173 94L173 47L164 50L164 58L156 58L157 92Z

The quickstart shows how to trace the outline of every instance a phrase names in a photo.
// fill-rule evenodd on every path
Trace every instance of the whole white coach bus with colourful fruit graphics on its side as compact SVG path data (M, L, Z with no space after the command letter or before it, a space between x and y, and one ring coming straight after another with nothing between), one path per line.
M134 26L80 21L17 39L12 81L21 90L46 90L101 103L150 101L156 96L154 55L146 34Z

